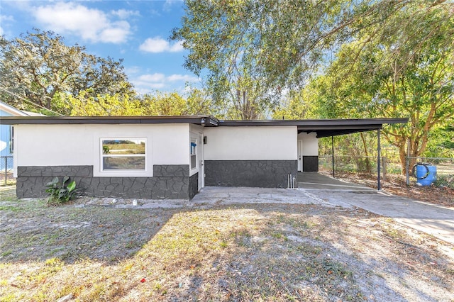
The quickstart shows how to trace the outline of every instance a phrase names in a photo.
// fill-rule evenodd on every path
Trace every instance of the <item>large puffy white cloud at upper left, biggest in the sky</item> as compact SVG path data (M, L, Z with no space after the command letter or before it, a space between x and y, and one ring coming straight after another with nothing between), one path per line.
M131 33L128 22L111 21L103 11L72 2L38 6L32 13L40 23L51 30L79 35L93 43L122 43Z

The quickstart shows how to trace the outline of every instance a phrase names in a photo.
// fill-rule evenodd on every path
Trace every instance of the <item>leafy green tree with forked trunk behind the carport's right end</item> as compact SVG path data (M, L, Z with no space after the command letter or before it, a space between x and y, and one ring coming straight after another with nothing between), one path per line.
M407 9L389 20L401 29L387 38L374 35L373 27L362 30L316 80L324 83L316 101L319 110L333 104L339 117L409 117L408 125L389 125L382 131L399 148L403 172L406 157L423 155L431 131L454 116L453 45L445 35L454 28L454 18L442 9L430 9L418 23L409 23L415 14ZM408 38L402 37L412 35L421 24L427 26L426 18L438 21L438 34L427 35L417 51L407 49Z

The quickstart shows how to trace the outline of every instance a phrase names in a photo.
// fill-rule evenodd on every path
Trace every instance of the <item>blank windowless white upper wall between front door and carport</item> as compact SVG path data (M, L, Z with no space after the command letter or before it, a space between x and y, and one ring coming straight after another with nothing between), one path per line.
M205 160L297 160L297 127L204 128Z

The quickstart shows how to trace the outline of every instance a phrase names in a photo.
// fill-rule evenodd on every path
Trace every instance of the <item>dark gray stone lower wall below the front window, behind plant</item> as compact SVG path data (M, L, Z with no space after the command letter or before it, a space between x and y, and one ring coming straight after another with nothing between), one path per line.
M84 196L188 199L189 164L154 165L153 177L93 177L93 166L18 167L18 198L44 197L45 184L53 177L70 177Z

